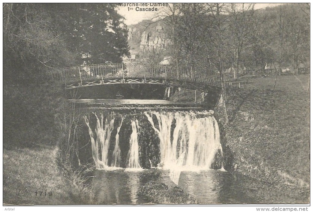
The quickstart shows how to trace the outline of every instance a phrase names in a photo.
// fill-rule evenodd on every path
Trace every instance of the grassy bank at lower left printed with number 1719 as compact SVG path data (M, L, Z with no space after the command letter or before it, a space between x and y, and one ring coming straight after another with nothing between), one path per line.
M88 188L75 188L64 178L57 165L58 148L3 149L3 204L5 205L66 205L92 204ZM19 186L29 194L19 198ZM36 196L35 192L38 191ZM39 195L40 191L52 196Z

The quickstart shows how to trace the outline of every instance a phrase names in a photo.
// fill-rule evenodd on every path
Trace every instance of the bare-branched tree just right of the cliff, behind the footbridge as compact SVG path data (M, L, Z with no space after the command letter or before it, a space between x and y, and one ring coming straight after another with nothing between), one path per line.
M204 3L172 3L160 12L159 21L167 26L167 36L171 39L168 53L176 62L190 70L191 76L196 69L206 72L206 53L209 47L212 22L208 21L208 7ZM177 64L178 66L178 64ZM191 71L192 70L192 71Z

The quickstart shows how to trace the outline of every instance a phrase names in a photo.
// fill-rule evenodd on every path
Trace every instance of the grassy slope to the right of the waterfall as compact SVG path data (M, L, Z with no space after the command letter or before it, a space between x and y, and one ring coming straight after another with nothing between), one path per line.
M237 171L273 184L310 185L308 75L250 79L228 91L227 145Z

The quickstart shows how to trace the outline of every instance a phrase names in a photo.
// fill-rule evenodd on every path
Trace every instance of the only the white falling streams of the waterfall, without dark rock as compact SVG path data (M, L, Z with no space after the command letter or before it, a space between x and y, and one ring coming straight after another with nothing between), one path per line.
M124 119L121 118L116 135L111 135L117 114L109 114L106 118L104 118L103 114L93 114L96 118L95 129L90 127L90 121L87 117L85 117L85 122L89 129L92 156L96 168L106 170L118 169L121 166L120 142L125 142L120 141L119 136ZM221 157L223 157L218 123L212 114L213 111L211 110L209 112L144 112L144 115L160 139L160 163L158 167L169 169L174 183L178 183L181 171L211 169L218 150L220 150ZM152 119L153 116L155 116L154 121ZM127 171L141 170L138 128L138 120L136 118L131 119L132 133L127 153ZM115 136L115 144L111 163L108 164L111 136ZM221 170L224 170L223 163Z

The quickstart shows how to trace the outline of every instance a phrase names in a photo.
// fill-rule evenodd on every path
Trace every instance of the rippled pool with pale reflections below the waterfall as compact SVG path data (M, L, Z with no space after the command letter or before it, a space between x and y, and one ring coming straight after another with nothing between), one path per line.
M306 196L271 188L259 181L241 176L234 179L228 172L208 170L175 172L150 169L139 172L96 170L93 190L96 204L147 204L151 202L139 191L145 183L157 181L168 188L178 186L201 204L277 204L301 203ZM172 175L172 176L171 176ZM176 175L177 182L171 178ZM305 194L304 194L305 195Z

